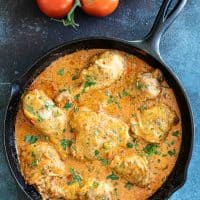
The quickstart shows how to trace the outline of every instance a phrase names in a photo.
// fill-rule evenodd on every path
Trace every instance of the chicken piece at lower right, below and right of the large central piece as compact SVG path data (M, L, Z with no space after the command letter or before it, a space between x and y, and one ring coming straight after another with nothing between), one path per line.
M144 187L149 183L149 168L146 157L133 151L124 150L116 155L111 162L111 168L127 181Z

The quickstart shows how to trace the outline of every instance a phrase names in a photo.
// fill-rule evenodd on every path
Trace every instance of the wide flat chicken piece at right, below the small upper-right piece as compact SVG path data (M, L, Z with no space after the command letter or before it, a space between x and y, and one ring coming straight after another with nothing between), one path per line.
M131 119L131 130L136 137L150 143L160 143L168 134L178 117L169 106L155 105L147 110L136 112Z

